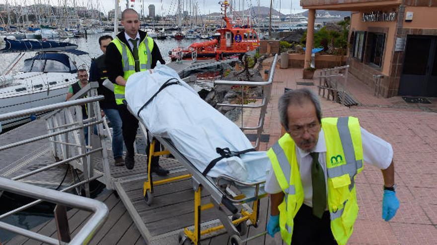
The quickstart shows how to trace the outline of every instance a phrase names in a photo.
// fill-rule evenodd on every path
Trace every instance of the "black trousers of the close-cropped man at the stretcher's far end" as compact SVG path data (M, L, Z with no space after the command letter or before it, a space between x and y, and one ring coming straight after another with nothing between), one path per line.
M135 154L134 143L135 137L138 131L138 119L129 112L128 108L124 104L118 104L118 111L120 113L122 121L123 140L126 146L126 154L133 157ZM158 141L156 141L154 152L160 151L161 147ZM150 143L147 141L146 154L149 155ZM152 157L151 166L158 165L159 156Z

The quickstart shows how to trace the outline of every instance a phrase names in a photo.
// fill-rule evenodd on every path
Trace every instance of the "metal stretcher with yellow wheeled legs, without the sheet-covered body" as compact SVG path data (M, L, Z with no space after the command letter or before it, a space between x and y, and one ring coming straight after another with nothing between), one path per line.
M126 103L127 104L127 103ZM128 105L128 109L129 108ZM132 112L132 111L131 111ZM183 179L192 180L194 190L194 229L185 228L179 235L179 245L198 245L202 236L218 232L225 229L230 236L231 245L241 245L266 233L258 234L246 240L241 240L248 230L248 226L258 226L260 199L267 196L264 191L265 180L257 182L244 182L225 174L217 178L204 175L193 165L171 142L171 140L159 136L152 136L147 132L141 117L139 120L140 128L148 139L152 139L147 157L147 179L143 185L143 196L150 205L153 202L153 187ZM164 150L154 151L156 141L159 141L165 148ZM151 174L151 157L172 154L189 174L153 181ZM210 203L201 203L202 191L207 191L211 195ZM248 204L253 203L250 207ZM222 225L201 229L202 211L212 209L217 213L217 217ZM228 215L231 213L231 215ZM230 217L229 217L230 216Z

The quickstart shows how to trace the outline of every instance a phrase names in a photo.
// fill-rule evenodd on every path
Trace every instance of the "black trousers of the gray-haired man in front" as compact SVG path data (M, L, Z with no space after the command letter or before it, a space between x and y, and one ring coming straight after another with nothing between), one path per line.
M292 245L337 245L331 232L329 211L321 219L312 214L312 208L302 204L294 217Z

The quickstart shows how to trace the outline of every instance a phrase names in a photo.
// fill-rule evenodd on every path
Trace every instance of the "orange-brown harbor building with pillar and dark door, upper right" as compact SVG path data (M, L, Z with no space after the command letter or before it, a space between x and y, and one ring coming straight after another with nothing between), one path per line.
M307 47L313 46L315 11L351 11L350 72L380 93L393 96L437 96L437 1L301 0L308 9ZM310 66L306 49L304 67Z

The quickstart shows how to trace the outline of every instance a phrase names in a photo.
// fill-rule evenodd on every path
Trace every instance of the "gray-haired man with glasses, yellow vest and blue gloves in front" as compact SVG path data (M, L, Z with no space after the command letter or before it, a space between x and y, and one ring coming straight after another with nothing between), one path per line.
M278 109L287 133L267 152L272 237L280 232L288 245L347 244L358 216L355 177L364 162L381 169L382 218L394 217L399 201L389 143L355 117L322 118L319 98L308 89L285 93Z

